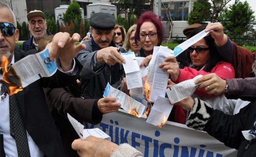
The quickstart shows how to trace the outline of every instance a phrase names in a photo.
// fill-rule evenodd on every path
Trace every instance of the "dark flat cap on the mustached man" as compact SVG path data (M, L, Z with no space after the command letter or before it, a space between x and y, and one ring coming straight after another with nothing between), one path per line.
M114 29L116 25L116 20L115 17L113 17L109 13L99 12L91 15L90 25L91 27L100 30Z

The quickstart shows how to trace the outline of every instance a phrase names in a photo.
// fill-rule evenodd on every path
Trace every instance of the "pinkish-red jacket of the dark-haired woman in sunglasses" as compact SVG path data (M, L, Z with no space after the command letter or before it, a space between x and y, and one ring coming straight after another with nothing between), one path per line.
M235 78L235 71L233 66L227 62L219 62L213 67L211 72L205 72L204 70L197 71L196 69L185 67L184 69L180 69L180 76L174 83L180 83L182 81L186 81L194 78L197 75L207 75L209 73L216 73L223 80ZM204 89L198 90L194 92L195 95L204 96L204 97L214 97L215 95L209 95Z

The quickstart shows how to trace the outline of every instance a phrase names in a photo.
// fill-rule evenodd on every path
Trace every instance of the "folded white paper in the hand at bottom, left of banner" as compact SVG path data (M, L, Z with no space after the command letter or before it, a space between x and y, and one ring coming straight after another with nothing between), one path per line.
M105 132L103 132L102 130L100 130L99 128L84 129L84 125L79 123L72 116L70 116L70 114L67 114L67 118L81 139L86 139L88 136L94 136L94 137L98 137L101 139L110 140L110 136L108 134L106 134Z

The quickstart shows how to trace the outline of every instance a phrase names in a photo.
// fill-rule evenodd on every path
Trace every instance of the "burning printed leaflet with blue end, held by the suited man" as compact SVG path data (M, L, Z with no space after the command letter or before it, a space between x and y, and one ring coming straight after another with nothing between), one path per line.
M12 64L9 69L7 69L7 65L4 65L6 68L1 83L5 86L9 95L17 93L42 77L50 77L57 71L55 62L49 59L48 49L28 55ZM1 87L1 94L3 94L2 89L4 89L3 86Z

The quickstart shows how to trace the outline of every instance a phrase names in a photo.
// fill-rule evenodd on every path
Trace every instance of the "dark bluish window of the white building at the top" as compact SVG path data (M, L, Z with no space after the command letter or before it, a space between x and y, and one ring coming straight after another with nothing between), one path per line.
M161 17L164 21L168 20L165 8L167 8L169 5L170 5L169 3L162 3ZM171 10L170 10L173 21L186 21L188 19L188 12L189 12L189 1L175 2L171 6Z

